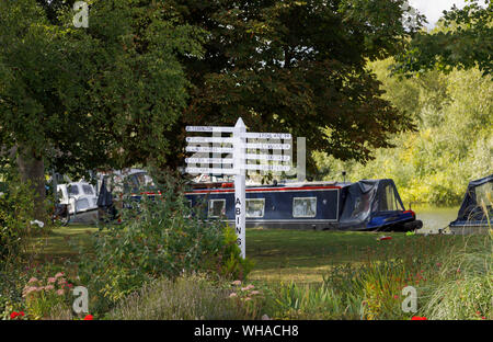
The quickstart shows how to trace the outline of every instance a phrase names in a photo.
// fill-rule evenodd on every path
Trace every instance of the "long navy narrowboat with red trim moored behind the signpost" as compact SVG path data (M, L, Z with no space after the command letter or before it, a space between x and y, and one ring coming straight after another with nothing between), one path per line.
M202 204L207 217L233 224L233 183L195 183L185 196L191 206ZM248 228L411 231L423 226L390 179L248 185L245 196Z

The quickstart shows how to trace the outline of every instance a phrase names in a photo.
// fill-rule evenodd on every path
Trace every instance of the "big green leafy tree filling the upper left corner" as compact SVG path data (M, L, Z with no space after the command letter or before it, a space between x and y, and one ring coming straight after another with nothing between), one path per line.
M87 30L72 16L66 9L53 23L34 0L0 2L0 146L16 148L38 218L45 166L80 173L163 161L186 104L176 56L199 54L200 33L162 20L150 1L91 1Z

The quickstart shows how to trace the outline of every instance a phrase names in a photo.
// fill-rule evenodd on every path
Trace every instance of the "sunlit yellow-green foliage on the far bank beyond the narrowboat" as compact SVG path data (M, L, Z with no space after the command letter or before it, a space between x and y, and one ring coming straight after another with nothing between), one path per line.
M414 117L416 133L395 135L393 149L377 149L366 164L316 153L326 179L391 178L405 203L457 205L470 180L491 173L493 87L478 69L429 71L412 79L389 75L391 60L371 64L385 98Z

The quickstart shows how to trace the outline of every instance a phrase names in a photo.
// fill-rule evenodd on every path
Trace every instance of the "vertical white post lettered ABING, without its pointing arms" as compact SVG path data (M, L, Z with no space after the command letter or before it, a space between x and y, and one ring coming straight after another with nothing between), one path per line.
M244 133L246 132L246 127L241 119L238 119L234 125L233 132L233 169L238 170L238 173L234 175L234 227L238 236L238 246L241 249L241 258L245 258L245 228L246 228L246 196L245 196L245 169L244 169L244 141L245 138Z

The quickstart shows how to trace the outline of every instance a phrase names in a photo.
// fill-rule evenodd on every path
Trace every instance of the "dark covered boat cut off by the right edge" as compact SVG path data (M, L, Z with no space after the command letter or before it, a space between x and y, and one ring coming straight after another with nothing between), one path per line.
M486 233L493 229L493 174L471 181L457 219L451 221L451 233Z

